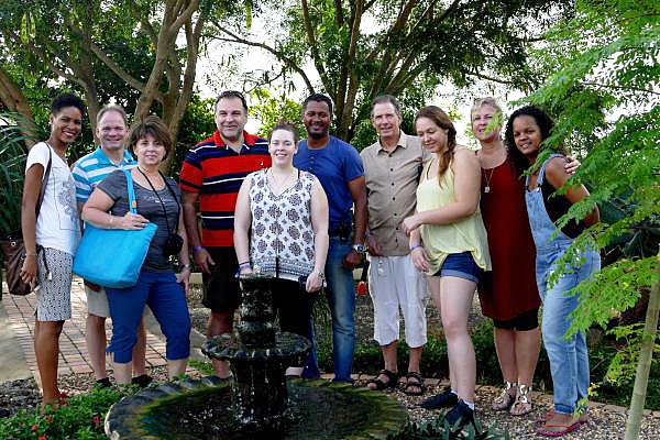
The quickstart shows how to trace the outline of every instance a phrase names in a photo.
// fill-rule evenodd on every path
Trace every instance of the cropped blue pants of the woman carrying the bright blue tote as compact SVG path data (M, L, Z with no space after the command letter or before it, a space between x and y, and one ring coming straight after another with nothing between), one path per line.
M190 315L186 295L174 273L143 271L134 286L122 289L107 287L106 295L112 318L112 341L106 351L114 353L114 362L131 362L145 304L165 334L167 360L190 355Z

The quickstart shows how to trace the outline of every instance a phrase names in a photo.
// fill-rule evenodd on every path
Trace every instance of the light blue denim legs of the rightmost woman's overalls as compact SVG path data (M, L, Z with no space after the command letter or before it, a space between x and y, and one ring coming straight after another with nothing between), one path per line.
M580 301L580 293L566 293L580 282L590 278L601 268L601 256L595 251L582 254L582 264L576 262L566 273L548 288L548 277L554 271L557 260L570 245L570 241L556 239L549 245L537 250L537 284L543 301L542 334L543 344L550 359L552 384L554 387L554 410L572 414L575 404L585 398L588 392L588 353L583 332L565 338L573 321L569 315Z

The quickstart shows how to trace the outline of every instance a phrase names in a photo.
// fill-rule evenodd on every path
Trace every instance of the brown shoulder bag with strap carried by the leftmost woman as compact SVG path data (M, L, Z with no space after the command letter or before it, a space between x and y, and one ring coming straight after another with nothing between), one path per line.
M44 172L44 178L42 180L42 186L38 191L38 199L36 200L36 205L34 207L34 217L35 223L38 219L38 212L41 211L42 202L44 201L44 195L46 193L46 185L48 185L48 178L51 177L51 167L53 166L53 152L48 146L48 165L46 166L46 170ZM25 262L25 244L22 239L16 240L8 240L2 243L2 253L4 253L4 273L7 276L7 287L9 288L9 293L12 295L21 295L25 296L33 290L33 286L30 283L23 282L21 278L21 270L23 268L23 263ZM42 246L36 246L36 254L40 255L44 261L44 266L46 267L46 272L48 272L48 263L46 263L46 257L42 251ZM37 256L38 257L38 256ZM48 272L48 277L51 276Z

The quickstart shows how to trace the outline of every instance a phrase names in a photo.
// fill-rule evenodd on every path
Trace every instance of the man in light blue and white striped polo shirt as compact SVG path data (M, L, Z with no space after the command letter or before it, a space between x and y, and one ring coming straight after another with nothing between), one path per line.
M94 188L116 169L130 169L138 162L124 148L127 136L127 113L116 105L105 106L97 116L97 138L100 146L94 152L80 157L74 164L74 180L76 182L76 200L78 209L89 198ZM85 282L87 294L86 342L89 360L99 386L110 386L106 373L106 318L110 316L106 290L101 286ZM145 371L146 336L144 326L140 323L138 343L133 348L133 383L146 386L151 377Z

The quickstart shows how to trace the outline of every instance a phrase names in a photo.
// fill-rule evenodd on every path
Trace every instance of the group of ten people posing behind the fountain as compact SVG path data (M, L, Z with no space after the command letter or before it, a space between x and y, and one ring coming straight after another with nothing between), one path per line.
M405 392L425 393L420 361L430 293L442 318L451 386L422 407L450 408L444 416L450 424L473 420L476 360L468 316L479 286L484 315L494 321L505 382L493 408L513 415L532 409L531 384L542 334L552 369L554 410L539 432L561 436L585 422L584 414L574 414L585 406L586 343L581 333L564 338L569 315L579 301L579 294L565 293L598 270L598 254L586 249L582 264L552 285L548 278L557 260L597 222L598 213L594 210L558 231L556 221L587 193L570 186L553 196L579 166L563 152L535 164L552 130L552 120L542 110L531 106L516 110L503 140L496 122L502 117L498 103L492 98L475 100L470 116L482 146L475 153L457 144L452 121L435 106L417 113L417 135L404 133L399 105L385 95L371 109L378 138L358 153L329 134L332 101L323 95L314 94L302 102L306 140L300 141L298 130L287 122L278 123L265 140L244 130L243 95L224 91L215 103L217 131L190 148L178 186L158 170L172 150L167 128L158 118L147 117L129 131L118 106L99 112L100 146L69 172L66 147L79 134L84 113L78 98L56 99L51 136L32 147L26 164L22 227L29 257L23 275L36 278L40 286L35 352L44 404L63 399L56 382L57 339L70 317L70 266L80 212L98 228L158 226L135 286L103 289L86 283L87 343L101 386L110 385L106 350L113 354L118 383L144 386L151 381L144 370L145 306L167 338L168 373L185 371L190 331L185 300L188 250L202 272L202 302L211 311L209 338L232 331L240 276L261 273L275 277L280 329L314 342L311 309L324 286L332 317L333 381L352 383L353 270L369 254L374 339L384 360L384 369L369 381L370 388L398 384L403 314L410 349ZM42 182L46 167L51 175ZM133 177L138 215L129 210L123 169ZM46 197L37 218L34 208L42 185ZM173 234L182 239L175 249ZM170 256L177 255L175 272ZM113 334L106 349L108 316ZM227 362L216 360L213 367L220 377L230 375ZM318 377L316 349L287 374Z

